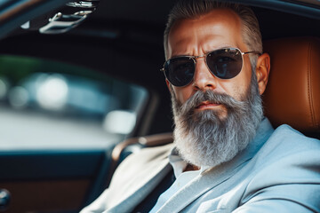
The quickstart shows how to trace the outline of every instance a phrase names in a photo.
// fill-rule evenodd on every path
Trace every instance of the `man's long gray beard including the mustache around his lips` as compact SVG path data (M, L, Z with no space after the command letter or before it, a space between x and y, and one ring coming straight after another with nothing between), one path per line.
M214 167L230 161L248 146L263 118L255 75L246 93L239 101L211 90L197 91L183 105L172 93L174 143L185 161L198 167ZM225 106L227 116L221 117L219 110L195 112L203 101Z

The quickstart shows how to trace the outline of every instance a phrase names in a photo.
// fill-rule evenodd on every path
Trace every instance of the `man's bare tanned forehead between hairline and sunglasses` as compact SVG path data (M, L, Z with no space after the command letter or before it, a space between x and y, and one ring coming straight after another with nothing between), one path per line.
M242 40L241 20L228 9L217 9L197 19L178 20L168 37L168 57L187 53L195 44L203 51L235 46Z

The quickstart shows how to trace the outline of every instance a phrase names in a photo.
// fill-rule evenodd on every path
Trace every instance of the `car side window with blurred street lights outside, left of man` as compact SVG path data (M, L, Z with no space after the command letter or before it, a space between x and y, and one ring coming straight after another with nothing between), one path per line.
M148 91L85 67L0 56L0 149L101 148L132 133Z

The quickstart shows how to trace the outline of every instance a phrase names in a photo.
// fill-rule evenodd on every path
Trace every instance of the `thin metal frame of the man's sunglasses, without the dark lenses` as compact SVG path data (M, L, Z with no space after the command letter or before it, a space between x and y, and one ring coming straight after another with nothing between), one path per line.
M242 66L241 66L240 72L241 72L241 70L242 70L242 67L244 67L244 55L245 55L245 54L253 53L253 54L259 54L259 55L261 55L261 52L260 52L260 51L244 51L244 52L243 52L243 51L241 51L239 48L236 48L236 47L226 47L226 48L221 48L221 49L217 49L217 50L214 50L214 51L223 51L223 50L228 50L228 51L230 51L230 50L235 51L235 50L236 50L236 51L239 51L239 52L241 53ZM171 58L171 59L178 59L178 58L188 58L188 59L192 59L192 60L194 61L194 65L195 65L195 71L194 71L194 73L193 73L193 77L192 77L191 81L190 81L189 83L187 83L186 85L176 86L176 87L184 87L184 86L187 86L188 84L190 84L190 83L193 81L193 79L194 79L194 77L195 77L195 73L196 73L196 59L199 59L199 58L204 58L205 65L206 65L206 67L208 68L208 70L210 71L210 73L211 73L213 76L215 76L215 77L217 77L217 78L219 78L219 79L222 79L222 78L220 78L220 77L218 77L218 76L216 76L216 75L214 75L214 74L212 73L212 70L209 68L208 63L207 63L207 57L208 57L208 55L211 54L211 53L214 52L214 51L208 51L208 52L206 52L204 55L199 55L199 56L181 55L181 56L176 56L176 57ZM166 64L169 60L171 60L171 59L167 59L166 61L164 61L164 67L165 67L165 64ZM167 78L167 76L165 75L164 67L161 68L160 71L164 72L165 78L171 83L171 81L170 81L170 80ZM240 73L240 72L239 72L239 73ZM239 74L239 73L238 73L238 74ZM238 75L238 74L237 74L237 75ZM235 75L234 77L236 77L236 75ZM234 78L234 77L232 77L232 78ZM227 78L227 79L232 79L232 78ZM174 84L172 83L172 85L174 85Z

